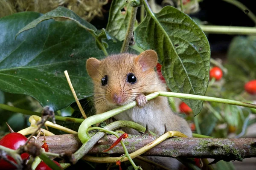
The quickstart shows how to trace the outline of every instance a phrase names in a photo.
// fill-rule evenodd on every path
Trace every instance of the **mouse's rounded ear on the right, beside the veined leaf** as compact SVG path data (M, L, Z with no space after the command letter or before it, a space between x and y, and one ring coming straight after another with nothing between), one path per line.
M143 51L136 57L135 62L140 62L142 71L153 69L157 65L157 52L154 50Z

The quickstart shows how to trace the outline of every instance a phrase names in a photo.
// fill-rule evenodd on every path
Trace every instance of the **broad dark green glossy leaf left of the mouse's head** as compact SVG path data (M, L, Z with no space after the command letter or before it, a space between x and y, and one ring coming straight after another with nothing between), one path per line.
M30 95L58 110L74 102L63 72L68 71L80 99L90 96L92 83L85 62L104 53L91 31L72 21L47 20L15 40L21 28L41 16L24 12L0 19L0 90ZM107 42L109 51L121 49L120 42Z

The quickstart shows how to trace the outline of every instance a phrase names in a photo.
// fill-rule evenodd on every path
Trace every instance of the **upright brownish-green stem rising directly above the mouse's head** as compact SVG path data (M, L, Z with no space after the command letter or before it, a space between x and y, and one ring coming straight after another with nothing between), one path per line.
M131 17L129 20L127 32L125 34L125 40L122 45L121 53L126 52L129 48L129 43L131 42L131 38L133 37L133 29L134 29L134 23L136 20L137 9L138 7L132 7L131 9Z

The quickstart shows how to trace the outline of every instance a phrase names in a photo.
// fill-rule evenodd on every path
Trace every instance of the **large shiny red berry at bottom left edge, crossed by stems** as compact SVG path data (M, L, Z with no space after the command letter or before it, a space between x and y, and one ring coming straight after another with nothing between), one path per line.
M24 145L27 141L26 136L20 134L20 133L8 133L6 136L3 136L2 139L0 139L0 145L4 147L8 147L10 149L16 150L18 149L21 145ZM21 155L22 159L28 159L29 154L28 153L22 153ZM10 156L7 156L7 158L11 161L14 161L14 159ZM16 161L15 161L16 162ZM1 170L15 170L16 168L10 164L7 161L0 160L0 167Z

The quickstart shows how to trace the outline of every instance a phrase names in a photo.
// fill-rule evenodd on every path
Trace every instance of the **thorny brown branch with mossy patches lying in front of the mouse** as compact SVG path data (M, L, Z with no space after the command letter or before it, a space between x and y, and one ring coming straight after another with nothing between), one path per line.
M149 135L129 135L129 137L125 139L125 146L128 152L132 153L152 142L154 139L157 139L157 137L158 136ZM40 137L37 142L41 144L43 140L44 137ZM63 142L64 140L65 142ZM107 149L115 141L116 137L113 135L104 136L88 154L103 153L102 151ZM62 153L64 150L74 153L81 146L77 134L47 136L47 143L50 151L54 153ZM181 147L182 149L180 149ZM118 144L109 151L111 154L120 155L122 155L123 152L124 150L121 144ZM151 150L148 150L143 155L242 161L244 158L256 157L256 139L170 138L153 147ZM90 157L87 156L87 159L90 159Z

